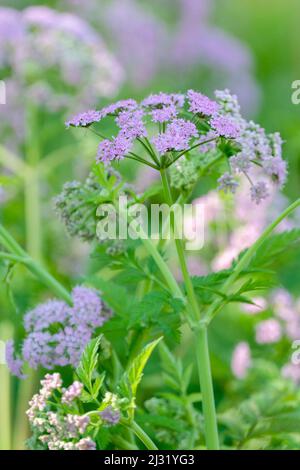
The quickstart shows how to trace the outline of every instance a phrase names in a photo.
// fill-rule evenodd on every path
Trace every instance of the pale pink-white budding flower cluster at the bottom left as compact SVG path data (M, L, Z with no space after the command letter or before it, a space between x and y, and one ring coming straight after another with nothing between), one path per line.
M41 389L29 402L26 414L32 428L38 435L40 444L48 450L96 450L95 442L86 435L90 418L87 414L78 414L76 399L80 396L83 385L74 382L67 390L62 388L60 374L47 374L41 380ZM76 393L70 393L70 390ZM68 406L65 408L53 407L51 398L53 393L61 395L61 402ZM68 400L65 400L66 394Z

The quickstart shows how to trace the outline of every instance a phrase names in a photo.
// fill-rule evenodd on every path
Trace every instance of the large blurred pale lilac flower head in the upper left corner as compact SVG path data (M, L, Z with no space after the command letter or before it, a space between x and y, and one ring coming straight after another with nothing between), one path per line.
M0 8L0 31L0 71L9 95L3 125L20 138L26 99L50 111L74 110L77 103L76 110L114 96L123 81L102 38L74 14L46 6ZM81 123L90 119L86 113Z

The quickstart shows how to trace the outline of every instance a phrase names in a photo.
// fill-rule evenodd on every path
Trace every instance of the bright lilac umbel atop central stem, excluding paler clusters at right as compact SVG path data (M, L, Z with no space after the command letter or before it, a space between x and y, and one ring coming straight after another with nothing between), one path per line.
M185 102L189 106L190 113L184 115ZM238 133L232 118L218 114L219 105L208 97L189 90L183 94L152 94L140 104L134 100L126 100L114 103L99 111L88 111L74 116L67 121L67 126L86 127L99 122L107 116L113 116L119 128L119 133L112 139L104 139L98 148L97 161L108 163L113 160L121 160L130 154L135 140L147 138L147 123L164 124L165 130L161 130L150 140L159 155L168 152L188 150L195 139L204 139L205 134L200 132L193 122L194 114L199 117L211 118L213 137L235 138ZM193 113L192 113L192 112ZM210 138L212 134L209 134ZM151 145L147 143L148 149ZM154 151L154 150L153 150Z

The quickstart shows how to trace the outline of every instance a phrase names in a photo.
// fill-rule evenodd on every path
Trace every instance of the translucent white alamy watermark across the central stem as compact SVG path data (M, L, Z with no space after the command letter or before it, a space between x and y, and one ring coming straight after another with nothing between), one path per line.
M203 204L128 204L121 196L117 205L101 204L97 210L97 236L101 240L168 240L174 236L186 242L186 249L204 245Z

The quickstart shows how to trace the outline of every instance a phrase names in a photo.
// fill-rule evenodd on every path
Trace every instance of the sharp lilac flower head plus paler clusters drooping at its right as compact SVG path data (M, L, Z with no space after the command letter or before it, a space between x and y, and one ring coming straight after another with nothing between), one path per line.
M174 159L184 180L185 166L189 166L188 174L197 174L199 159L195 156L196 152L203 161L203 155L207 157L220 151L220 143L234 140L231 156L224 154L229 162L229 171L220 176L219 189L234 193L240 176L244 175L250 182L251 200L259 204L270 195L270 182L279 187L285 183L287 168L282 159L282 139L278 133L268 135L254 122L245 120L240 113L237 97L228 90L216 91L215 98L212 100L194 90L188 90L186 95L152 94L141 103L129 99L99 111L79 114L70 119L67 126L86 127L111 116L119 131L116 136L100 142L98 162L110 163L126 156L139 159L136 151L133 153L134 145L139 142L155 165L165 156L171 159L168 166ZM154 135L153 123L157 124ZM151 133L147 130L147 124L151 126ZM236 152L234 155L233 150ZM187 160L185 153L191 151L193 158ZM176 155L176 152L182 155ZM177 181L176 175L173 176L172 179ZM188 186L187 181L183 183L180 185L177 181L176 186Z

